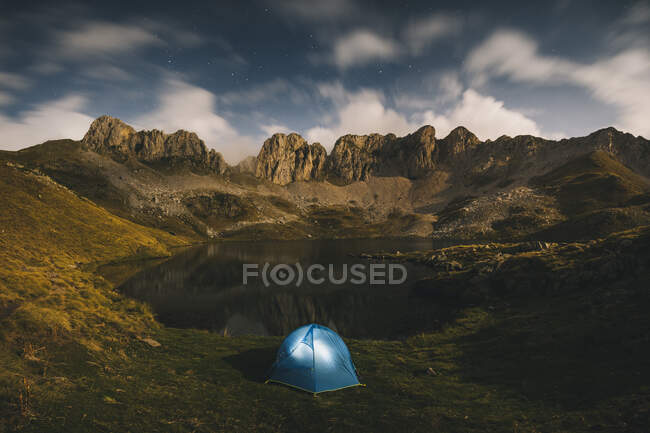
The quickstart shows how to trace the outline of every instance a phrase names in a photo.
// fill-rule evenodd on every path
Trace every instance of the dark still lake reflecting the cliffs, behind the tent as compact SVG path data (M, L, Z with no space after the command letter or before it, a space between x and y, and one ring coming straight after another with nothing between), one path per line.
M443 312L411 296L418 279L430 276L423 266L404 264L400 285L332 283L265 287L261 278L242 284L242 265L254 263L370 264L362 252L429 250L445 246L431 240L333 240L223 242L184 251L146 269L121 286L149 303L168 326L203 328L229 335L286 335L306 323L328 326L357 338L394 338L435 326Z

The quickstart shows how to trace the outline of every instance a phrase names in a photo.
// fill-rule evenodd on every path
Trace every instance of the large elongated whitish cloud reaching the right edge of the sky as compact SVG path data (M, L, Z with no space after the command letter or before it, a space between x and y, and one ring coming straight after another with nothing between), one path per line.
M571 84L587 89L596 99L618 108L615 126L650 136L650 50L623 49L593 63L544 56L527 35L500 30L469 54L465 62L474 83L493 77L535 84Z

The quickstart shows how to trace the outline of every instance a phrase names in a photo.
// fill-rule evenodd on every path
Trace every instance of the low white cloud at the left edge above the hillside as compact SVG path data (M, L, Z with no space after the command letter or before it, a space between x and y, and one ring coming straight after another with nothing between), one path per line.
M0 114L0 147L18 150L46 140L81 139L93 120L82 112L86 102L82 95L70 94L38 104L16 117Z

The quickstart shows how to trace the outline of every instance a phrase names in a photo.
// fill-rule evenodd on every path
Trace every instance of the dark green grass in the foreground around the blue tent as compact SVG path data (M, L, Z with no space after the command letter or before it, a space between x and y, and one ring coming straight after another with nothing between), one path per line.
M643 431L647 348L611 341L634 322L601 323L603 337L590 340L591 322L611 317L587 314L575 329L576 305L563 305L466 308L406 341L348 340L367 386L316 397L264 384L280 338L162 328L161 347L120 341L111 363L65 348L32 367L47 374L33 379L19 422L53 432Z

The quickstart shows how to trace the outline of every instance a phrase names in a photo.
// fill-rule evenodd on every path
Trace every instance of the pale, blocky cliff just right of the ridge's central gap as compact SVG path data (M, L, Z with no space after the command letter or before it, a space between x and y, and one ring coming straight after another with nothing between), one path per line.
M298 134L274 134L257 156L255 175L279 185L321 180L327 152L319 143L308 144Z

